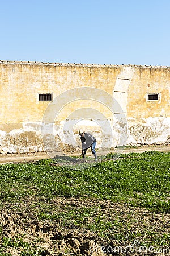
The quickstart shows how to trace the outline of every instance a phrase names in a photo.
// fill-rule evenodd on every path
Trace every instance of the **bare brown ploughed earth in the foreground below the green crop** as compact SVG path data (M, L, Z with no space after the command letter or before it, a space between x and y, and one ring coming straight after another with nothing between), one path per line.
M47 205L52 211L56 210L58 214L66 212L66 209L67 212L70 210L70 217L65 218L61 214L61 217L56 219L48 220L48 216L46 220L40 219L38 213L43 211ZM83 219L77 216L78 222L73 222L74 209L76 211L79 209L79 212L86 209L86 212L90 212L91 208L96 209L92 215L84 214ZM105 225L103 226L103 236L97 232L97 221L100 221L101 225L102 218L105 225L111 221L115 223L114 230L109 229L109 226L107 229ZM170 253L168 246L160 246L161 249L155 250L150 243L147 243L151 237L153 240L158 239L156 238L158 234L164 236L165 233L170 232L170 214L154 214L147 209L133 208L109 200L58 197L49 202L46 199L37 201L36 198L25 198L19 203L3 204L0 223L1 236L6 237L4 241L2 238L2 242L8 243L4 253L11 253L1 255L158 256ZM94 231L92 226L94 226ZM91 230L87 227L91 227ZM107 238L105 232L112 232L112 237ZM124 234L121 240L118 238L120 233ZM129 233L134 236L142 233L142 237L129 241ZM143 242L145 246L142 246ZM29 253L22 254L23 247L27 246Z

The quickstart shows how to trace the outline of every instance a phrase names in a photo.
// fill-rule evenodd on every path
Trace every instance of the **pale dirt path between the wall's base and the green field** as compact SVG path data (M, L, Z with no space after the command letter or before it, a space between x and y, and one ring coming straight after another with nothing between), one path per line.
M170 145L167 146L137 146L137 147L126 147L122 150L121 154L128 154L128 153L142 153L145 151L160 151L160 152L170 152ZM111 150L110 152L116 152L115 149ZM51 155L57 155L58 152L52 152ZM63 154L63 153L62 153ZM74 155L79 156L79 152L65 152L64 155ZM29 162L29 161L37 161L40 159L50 158L50 156L46 152L39 152L39 153L26 153L26 154L0 154L0 164L6 163L14 163L14 162Z

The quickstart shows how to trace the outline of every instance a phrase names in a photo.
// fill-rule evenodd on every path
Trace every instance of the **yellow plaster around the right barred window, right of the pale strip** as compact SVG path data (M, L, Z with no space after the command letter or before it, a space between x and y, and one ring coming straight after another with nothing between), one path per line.
M170 93L169 68L136 68L129 86L128 117L168 117ZM147 102L147 93L161 93L160 102Z

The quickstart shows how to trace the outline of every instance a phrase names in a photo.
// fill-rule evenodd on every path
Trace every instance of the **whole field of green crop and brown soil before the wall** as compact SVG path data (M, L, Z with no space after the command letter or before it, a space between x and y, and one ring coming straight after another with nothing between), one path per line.
M169 255L170 153L112 157L83 170L52 159L1 165L0 255L93 255L92 243L103 255L130 245Z

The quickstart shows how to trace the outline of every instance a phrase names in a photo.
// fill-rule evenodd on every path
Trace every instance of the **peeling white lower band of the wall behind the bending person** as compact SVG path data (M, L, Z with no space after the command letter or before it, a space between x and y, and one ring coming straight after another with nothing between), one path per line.
M65 122L60 122L58 125L46 123L43 126L41 122L25 122L20 129L9 132L0 130L0 152L63 151L66 147L68 150L69 148L79 150L81 143L78 130L80 129L96 137L96 148L116 147L123 144L170 144L169 117L150 117L141 119L139 123L135 119L128 119L128 124L124 125L115 120L103 120L99 123L88 120L83 122L67 120L67 126ZM112 131L108 128L108 123ZM70 131L67 127L73 129ZM128 133L126 133L127 127Z

